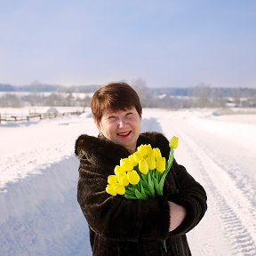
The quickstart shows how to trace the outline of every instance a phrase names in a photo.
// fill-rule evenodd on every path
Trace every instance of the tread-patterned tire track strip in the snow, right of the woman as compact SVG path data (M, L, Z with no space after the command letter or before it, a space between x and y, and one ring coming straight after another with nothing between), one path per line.
M180 130L175 133L184 140L193 155L192 158L198 163L198 171L204 180L207 193L211 193L215 202L214 212L219 217L223 234L233 249L232 255L256 255L256 216L252 204L236 188L225 170L205 154L204 148L200 148Z

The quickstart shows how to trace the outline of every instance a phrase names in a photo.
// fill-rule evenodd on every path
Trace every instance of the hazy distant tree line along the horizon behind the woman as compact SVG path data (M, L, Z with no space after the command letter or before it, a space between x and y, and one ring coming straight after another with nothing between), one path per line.
M207 84L189 88L150 88L142 79L135 79L130 84L139 93L144 108L256 108L256 89L253 88L216 88ZM95 84L0 84L0 92L5 92L0 94L0 107L89 107L92 93L99 88L100 85ZM20 96L15 92L29 93Z

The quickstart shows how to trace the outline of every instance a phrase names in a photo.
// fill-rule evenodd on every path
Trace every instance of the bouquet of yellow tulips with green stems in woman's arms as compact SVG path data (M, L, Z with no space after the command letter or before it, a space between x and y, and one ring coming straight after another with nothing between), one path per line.
M170 140L170 154L166 163L159 148L140 145L137 151L122 158L115 167L115 174L108 176L106 191L111 196L122 195L126 199L148 199L163 196L164 180L173 162L173 150L179 139Z

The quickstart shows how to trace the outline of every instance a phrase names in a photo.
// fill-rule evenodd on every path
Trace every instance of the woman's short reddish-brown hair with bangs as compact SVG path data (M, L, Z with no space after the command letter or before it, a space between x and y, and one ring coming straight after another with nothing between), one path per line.
M142 107L137 92L124 82L114 82L102 86L96 91L91 100L92 116L96 124L106 110L118 111L136 108L141 117Z

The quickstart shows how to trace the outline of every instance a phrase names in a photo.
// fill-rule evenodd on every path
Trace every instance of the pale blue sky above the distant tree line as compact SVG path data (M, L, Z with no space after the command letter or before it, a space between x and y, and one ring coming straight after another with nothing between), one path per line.
M255 0L0 0L0 84L256 88Z

